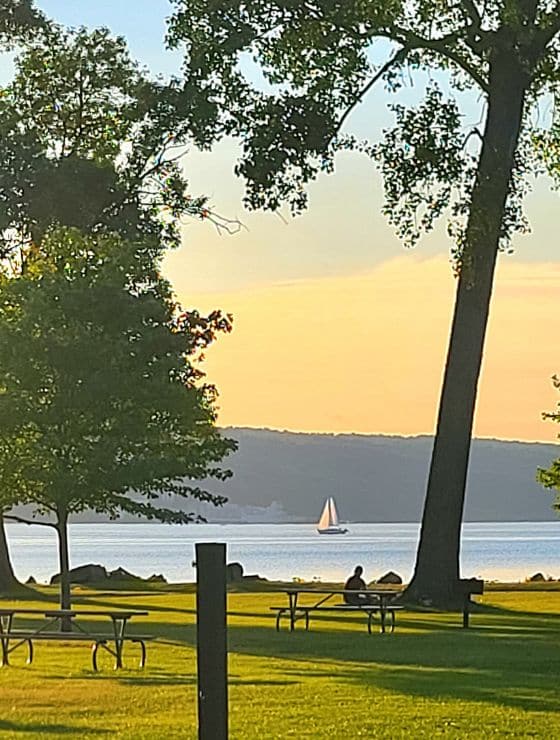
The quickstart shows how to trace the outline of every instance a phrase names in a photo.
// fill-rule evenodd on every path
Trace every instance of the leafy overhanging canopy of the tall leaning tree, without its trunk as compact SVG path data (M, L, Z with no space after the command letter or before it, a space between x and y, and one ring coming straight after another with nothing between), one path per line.
M439 216L451 215L450 232L461 251L482 131L466 124L448 90L471 89L487 98L493 59L514 35L519 36L520 74L527 75L530 94L502 223L503 245L514 229L525 227L522 175L535 172L538 157L558 172L557 2L172 4L168 40L184 49L185 90L192 95L194 89L201 101L196 141L207 147L223 135L240 137L236 172L246 181L251 208L276 210L286 202L294 213L301 212L307 205L306 184L332 171L341 148L356 149L382 169L385 213L399 236L414 243ZM374 63L372 57L385 59ZM252 64L266 84L252 82L255 75L247 73ZM426 84L425 77L416 75L419 70L439 74ZM417 106L395 104L395 126L372 145L345 135L344 129L376 83L396 95L409 84L425 87L425 97ZM553 126L550 116L535 115L543 96L551 96L546 102L554 107Z

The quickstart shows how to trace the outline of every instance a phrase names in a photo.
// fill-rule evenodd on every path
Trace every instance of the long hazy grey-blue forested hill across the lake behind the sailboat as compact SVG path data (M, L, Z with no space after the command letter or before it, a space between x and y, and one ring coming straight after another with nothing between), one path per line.
M431 437L238 428L225 434L239 441L239 450L230 458L233 478L212 483L229 503L219 514L207 512L211 520L312 522L330 495L343 520L415 522L421 517ZM535 473L558 456L558 445L475 440L466 521L554 519L553 494L536 483Z

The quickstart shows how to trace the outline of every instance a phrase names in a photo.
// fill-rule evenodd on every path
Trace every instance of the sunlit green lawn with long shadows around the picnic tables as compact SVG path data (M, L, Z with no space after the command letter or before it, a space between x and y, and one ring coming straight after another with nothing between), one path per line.
M25 606L54 598L37 594ZM332 614L277 634L268 607L283 598L228 597L232 738L560 737L560 591L492 590L470 630L459 614L406 611L384 636ZM0 669L0 737L195 738L192 589L81 591L74 603L147 609L133 631L163 641L144 671L133 647L131 668L106 660L99 674L86 643L37 643L32 666L15 653Z

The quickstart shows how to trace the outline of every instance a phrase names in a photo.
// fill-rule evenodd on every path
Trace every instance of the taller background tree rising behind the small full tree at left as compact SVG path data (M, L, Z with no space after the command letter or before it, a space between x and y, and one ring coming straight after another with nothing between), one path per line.
M26 0L0 8L0 38L18 24L35 24L14 79L0 91L4 284L31 264L37 269L46 256L44 236L56 223L82 233L118 232L122 240L149 244L156 261L178 243L184 216L235 229L205 198L187 193L177 161L186 116L185 105L176 104L177 84L151 80L107 30L65 31L31 11ZM187 320L196 334L202 318L193 313ZM8 589L15 579L1 514L0 506L0 589Z

